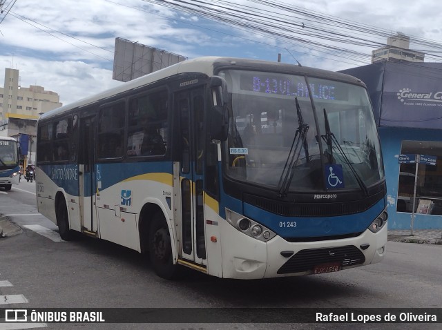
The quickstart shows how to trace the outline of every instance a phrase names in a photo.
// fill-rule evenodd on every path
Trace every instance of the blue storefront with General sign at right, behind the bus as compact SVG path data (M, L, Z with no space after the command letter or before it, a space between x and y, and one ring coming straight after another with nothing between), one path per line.
M442 229L442 64L381 62L341 72L364 81L372 99L389 229L410 229L413 214L414 229ZM410 157L400 163L399 155Z

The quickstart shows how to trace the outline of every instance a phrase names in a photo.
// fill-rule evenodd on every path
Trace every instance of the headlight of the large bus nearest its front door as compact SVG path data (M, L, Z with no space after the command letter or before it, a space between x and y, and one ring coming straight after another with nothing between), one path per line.
M226 208L226 219L229 224L238 229L238 231L262 242L267 242L276 236L276 233L273 233L273 231L267 229L267 227L262 226L262 224L258 224L258 222L253 221L248 217L230 211L228 208Z

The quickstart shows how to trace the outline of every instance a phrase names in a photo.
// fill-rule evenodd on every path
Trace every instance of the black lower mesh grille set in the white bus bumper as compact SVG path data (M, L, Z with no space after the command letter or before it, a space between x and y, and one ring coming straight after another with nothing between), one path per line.
M278 274L311 271L314 266L336 262L339 262L341 266L363 264L365 255L354 245L301 250L282 265Z

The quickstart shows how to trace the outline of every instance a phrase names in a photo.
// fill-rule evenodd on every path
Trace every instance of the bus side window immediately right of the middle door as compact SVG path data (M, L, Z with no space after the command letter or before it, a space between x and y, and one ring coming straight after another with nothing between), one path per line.
M125 119L124 101L104 106L99 110L99 158L119 158L123 156Z

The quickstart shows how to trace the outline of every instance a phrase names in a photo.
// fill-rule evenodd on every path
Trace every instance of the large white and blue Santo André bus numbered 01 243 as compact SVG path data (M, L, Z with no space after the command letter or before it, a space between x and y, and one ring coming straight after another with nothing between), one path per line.
M39 212L182 266L274 278L380 262L381 147L365 85L336 72L203 57L41 115Z

